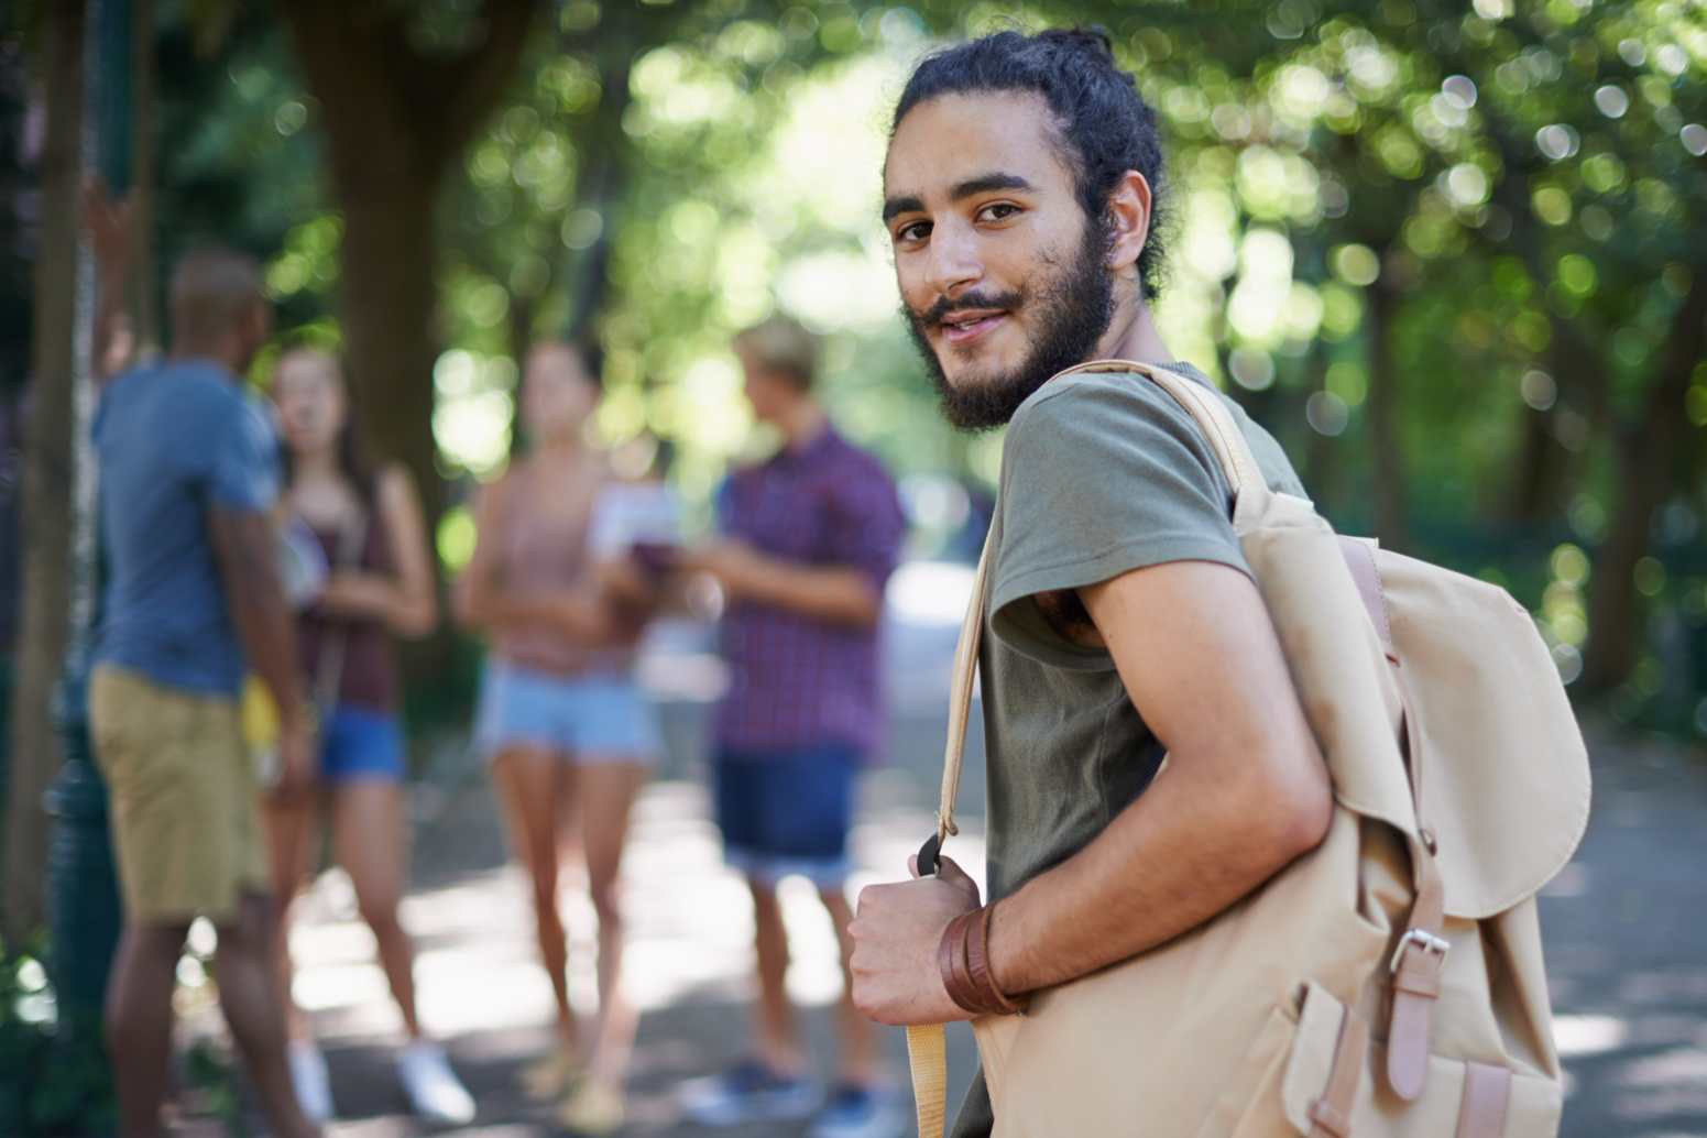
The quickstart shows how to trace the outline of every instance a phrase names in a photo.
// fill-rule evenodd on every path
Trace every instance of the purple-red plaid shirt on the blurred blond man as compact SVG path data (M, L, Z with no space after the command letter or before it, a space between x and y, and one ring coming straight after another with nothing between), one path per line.
M883 587L906 522L877 459L824 427L797 449L734 471L717 500L729 537L809 566L857 568ZM729 606L722 655L731 686L717 744L775 754L823 744L869 756L883 737L877 630L741 601Z

